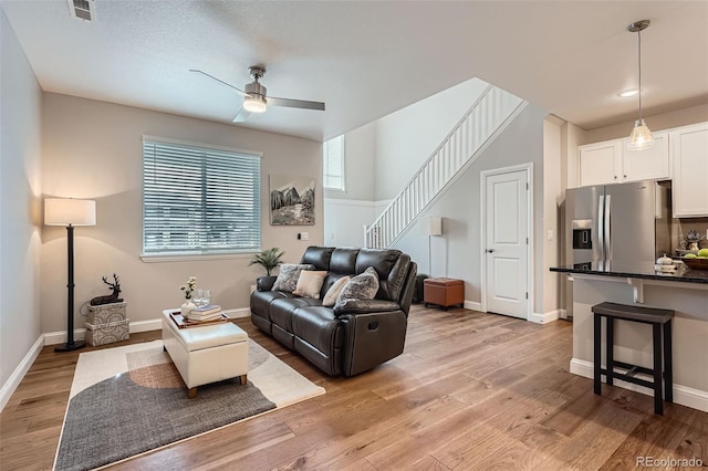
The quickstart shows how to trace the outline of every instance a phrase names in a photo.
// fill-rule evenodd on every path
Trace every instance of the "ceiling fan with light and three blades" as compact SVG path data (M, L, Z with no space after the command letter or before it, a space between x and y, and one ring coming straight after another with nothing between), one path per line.
M244 122L251 113L263 113L268 105L273 106L288 106L290 108L304 108L304 109L317 109L324 111L324 103L322 102L309 102L305 100L292 100L292 98L278 98L275 96L268 96L266 93L266 87L260 84L259 80L263 77L266 73L266 67L262 65L251 65L248 67L251 77L253 77L253 82L246 84L246 91L237 88L236 86L227 83L220 78L215 77L211 74L208 74L198 69L190 69L189 72L196 72L202 75L208 76L209 78L214 78L219 83L222 83L226 86L229 86L236 90L239 94L243 95L243 106L236 114L233 118L233 123L242 123Z

